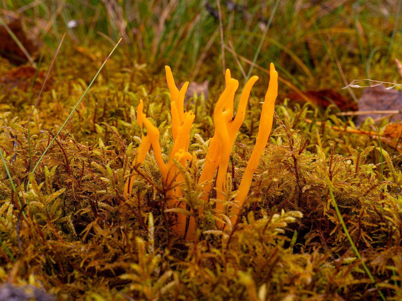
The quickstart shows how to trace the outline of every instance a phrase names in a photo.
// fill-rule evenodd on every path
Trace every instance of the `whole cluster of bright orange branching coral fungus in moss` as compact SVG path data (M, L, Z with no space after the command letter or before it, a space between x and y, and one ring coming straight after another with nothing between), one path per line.
M170 155L170 160L167 164L164 163L162 159L162 150L160 148L159 143L159 131L158 129L152 125L152 123L146 118L146 115L142 112L144 108L144 104L142 100L140 100L138 109L137 109L137 124L141 128L143 127L143 123L147 128L148 134L145 136L142 134L142 142L138 149L138 154L135 159L135 162L138 164L142 164L152 144L152 148L154 149L154 157L155 161L158 164L158 167L162 173L162 183L166 190L166 195L170 196L170 206L177 206L178 197L182 196L182 192L180 187L176 187L176 191L173 193L173 188L171 183L174 180L174 176L176 174L176 165L174 165L174 159L176 159L180 165L183 167L187 166L187 161L191 161L192 156L187 152L189 149L190 142L190 130L193 124L193 120L195 116L191 111L184 112L184 98L186 89L188 86L188 82L186 82L180 91L177 89L172 72L170 67L166 66L166 79L168 82L168 87L170 89L171 103L170 103L170 113L172 115L172 135L174 140L174 145L172 148L172 153ZM237 195L235 200L239 201L239 207L234 208L234 212L240 214L241 206L246 199L248 191L250 189L250 185L252 182L252 178L254 176L254 171L260 161L260 157L263 153L263 149L267 144L269 134L272 128L273 122L273 110L275 105L275 99L277 97L278 92L278 73L275 71L274 65L271 63L270 69L270 81L267 94L265 95L265 102L263 104L260 125L258 128L258 137L256 140L255 148L252 152L250 160L248 161L248 165L246 167L246 171L244 172L244 176L240 183ZM219 97L215 109L213 112L213 123L215 125L215 134L209 140L209 148L208 154L205 156L205 165L199 177L198 183L203 183L205 181L209 181L213 179L216 169L219 167L217 177L216 177L216 188L217 188L217 199L224 199L224 193L226 193L226 173L228 169L230 153L232 152L232 147L234 144L234 140L236 139L236 134L244 121L244 117L246 114L246 106L248 103L248 98L250 96L251 88L254 83L257 81L258 77L251 77L242 91L242 96L240 97L240 102L238 105L237 114L234 117L233 112L233 102L234 95L239 86L239 83L236 79L231 78L230 70L226 70L225 81L226 88L224 92ZM135 179L135 175L133 175L130 181L126 182L124 196L127 197L127 194L131 194L133 181ZM183 175L178 172L176 177L177 182L184 181ZM130 184L129 184L130 183ZM203 199L205 201L208 200L208 192L211 189L211 183L205 185L203 190L205 192ZM177 234L186 238L186 222L187 216L183 213L185 212L184 204L180 204L181 209L177 210L177 224L175 226L175 230ZM199 216L202 215L202 209L199 209ZM223 213L224 206L222 203L216 204L217 216ZM232 223L235 222L236 219L232 218ZM222 224L217 222L217 226L221 227ZM188 224L188 232L187 239L196 238L195 233L195 218L190 216L189 224Z

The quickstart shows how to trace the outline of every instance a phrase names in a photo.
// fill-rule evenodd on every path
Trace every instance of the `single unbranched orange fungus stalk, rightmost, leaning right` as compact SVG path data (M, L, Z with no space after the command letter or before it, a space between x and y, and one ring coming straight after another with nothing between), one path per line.
M258 126L258 136L254 150L252 151L251 157L248 160L246 171L244 171L242 181L240 182L237 195L235 197L235 200L239 201L240 208L246 200L254 172L258 163L260 162L261 155L263 154L263 150L267 145L269 134L271 133L272 129L275 100L278 96L278 72L275 71L275 66L273 63L270 65L269 75L270 78L268 91L267 94L265 94L265 100L260 117L260 125ZM240 210L238 208L234 207L232 210L234 210L234 212L237 214L240 214ZM235 220L236 219L232 219L232 223Z

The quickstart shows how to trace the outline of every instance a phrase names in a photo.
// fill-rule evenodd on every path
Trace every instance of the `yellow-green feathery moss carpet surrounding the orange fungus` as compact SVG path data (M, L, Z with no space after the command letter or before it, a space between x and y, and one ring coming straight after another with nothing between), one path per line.
M146 67L121 71L121 62L112 58L110 79L106 71L100 73L88 92L88 107L84 99L30 173L97 68L88 58L68 62L66 70L76 63L84 67L80 78L64 71L61 79L51 78L29 124L31 138L23 128L31 113L28 92L4 88L8 106L0 112L1 150L18 197L1 165L0 238L16 260L0 249L2 281L43 285L59 300L375 299L378 292L342 230L331 188L382 293L389 300L402 297L402 175L388 155L393 149L383 145L381 182L377 141L364 136L370 120L355 129L331 108L290 108L286 100L277 105L242 215L232 222L229 208L236 205L236 189L255 143L258 119L250 118L260 115L262 99L252 98L252 113L246 112L232 148L224 197L211 189L206 200L200 196L208 182L198 178L214 131L217 96L190 99L189 109L197 112L189 143L192 160L184 167L176 164L183 182L174 185L183 191L183 204L204 210L193 215L196 239L183 240L174 231L171 212L177 210L169 204L154 151L141 166L135 161L142 139L135 115L139 99L160 131L162 159L168 162L172 152L163 73ZM256 95L265 93L255 89ZM34 98L37 93L34 89ZM132 194L125 199L125 182L133 174L138 175ZM218 203L224 207L220 212Z

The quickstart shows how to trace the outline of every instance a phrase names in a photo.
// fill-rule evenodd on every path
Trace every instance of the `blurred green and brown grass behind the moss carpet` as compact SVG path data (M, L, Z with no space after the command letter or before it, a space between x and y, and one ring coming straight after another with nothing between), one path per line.
M0 7L3 19L21 18L35 40L51 49L64 32L67 43L95 54L99 44L110 47L109 41L122 37L122 67L146 63L161 72L167 64L180 79L214 79L210 87L222 85L223 64L236 78L246 77L266 30L256 64L260 69L275 64L284 79L280 96L295 88L339 89L353 79L399 80L394 63L402 37L397 0L221 0L224 60L217 1L2 0ZM268 76L263 78L266 85Z

